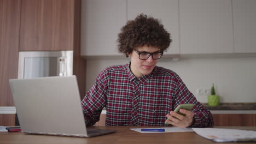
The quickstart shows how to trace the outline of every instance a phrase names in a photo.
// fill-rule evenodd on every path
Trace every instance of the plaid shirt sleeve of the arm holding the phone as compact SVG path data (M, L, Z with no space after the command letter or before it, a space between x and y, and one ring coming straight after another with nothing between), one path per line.
M194 124L190 127L211 127L213 126L212 113L206 109L195 96L188 90L183 81L177 76L176 98L173 101L173 109L179 104L194 104L191 110L194 113Z

